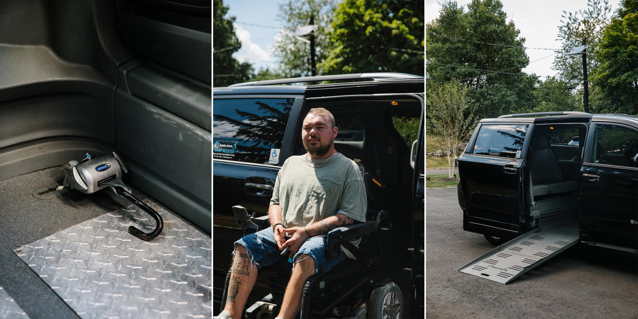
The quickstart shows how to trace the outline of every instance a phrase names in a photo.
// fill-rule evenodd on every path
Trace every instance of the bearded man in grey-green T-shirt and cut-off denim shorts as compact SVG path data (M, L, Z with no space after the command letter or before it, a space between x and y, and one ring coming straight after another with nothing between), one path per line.
M331 254L325 254L323 237L315 237L366 221L366 186L357 163L334 148L337 133L328 110L309 110L301 133L307 152L286 159L279 170L268 211L271 227L235 242L225 308L215 318L241 318L258 269L281 258L292 262L292 274L277 318L294 318L306 280L353 258L345 249L326 256ZM356 247L358 242L350 244Z

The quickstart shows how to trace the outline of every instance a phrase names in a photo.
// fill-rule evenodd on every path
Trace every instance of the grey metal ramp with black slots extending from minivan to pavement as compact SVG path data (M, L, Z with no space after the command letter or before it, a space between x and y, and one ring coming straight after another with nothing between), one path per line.
M472 260L459 271L506 284L578 241L577 223L535 228Z

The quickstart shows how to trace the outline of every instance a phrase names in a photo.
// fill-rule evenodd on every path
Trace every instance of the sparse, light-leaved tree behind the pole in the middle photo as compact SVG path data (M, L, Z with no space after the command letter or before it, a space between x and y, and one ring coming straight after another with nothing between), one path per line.
M310 70L310 45L292 34L300 26L307 26L310 17L318 26L315 31L316 64L327 55L328 29L332 12L336 8L334 0L290 0L279 5L278 17L283 21L285 31L278 34L273 46L273 55L278 57L276 73L283 77L307 77ZM317 70L320 75L320 70Z

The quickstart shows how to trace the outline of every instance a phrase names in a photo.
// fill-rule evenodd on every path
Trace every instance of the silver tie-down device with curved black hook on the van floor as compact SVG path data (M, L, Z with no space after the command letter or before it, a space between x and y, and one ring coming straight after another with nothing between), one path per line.
M82 193L91 194L110 187L116 195L137 205L137 207L140 207L155 219L156 227L152 232L145 233L134 226L130 226L128 232L131 235L144 241L151 241L161 233L164 223L158 212L133 196L131 188L122 182L123 174L128 172L128 170L115 152L98 158L86 153L80 163L71 160L65 163L63 168L66 172L63 183L64 188L77 189Z

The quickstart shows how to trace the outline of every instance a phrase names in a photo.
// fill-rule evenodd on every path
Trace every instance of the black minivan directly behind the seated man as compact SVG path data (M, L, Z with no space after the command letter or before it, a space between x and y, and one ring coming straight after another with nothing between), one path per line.
M424 78L401 73L288 78L213 89L213 313L225 300L233 242L244 234L233 207L241 205L253 219L267 218L281 165L306 152L301 124L313 107L332 112L339 128L336 150L359 163L362 173L379 186L381 196L375 197L387 199L379 205L387 218L379 224L378 237L362 249L365 256L343 271L325 274L325 286L318 284L311 313L304 315L302 306L301 318L364 318L366 309L368 318L380 317L370 306L378 299L371 297L373 290L385 292L373 293L380 296L377 301L386 300L383 311L406 318L424 313L423 95ZM376 249L379 246L383 247ZM259 305L278 304L278 285L288 280L272 273L260 271L263 278L258 278L248 299L246 306L253 306L247 316L261 313L255 310Z

